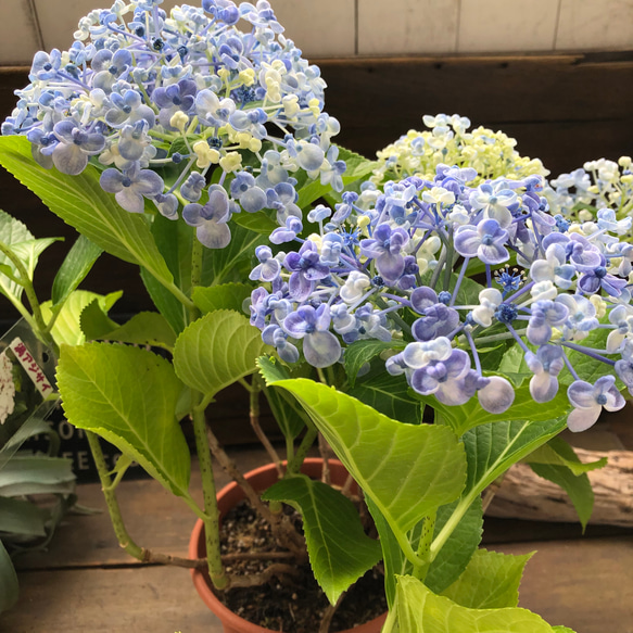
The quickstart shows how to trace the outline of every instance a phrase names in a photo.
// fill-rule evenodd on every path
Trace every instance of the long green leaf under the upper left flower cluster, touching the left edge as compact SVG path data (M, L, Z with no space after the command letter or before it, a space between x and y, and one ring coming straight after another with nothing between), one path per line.
M55 215L110 254L139 264L164 283L172 274L150 232L147 217L123 210L99 185L88 165L78 176L43 169L33 159L24 136L0 138L0 164L30 189Z

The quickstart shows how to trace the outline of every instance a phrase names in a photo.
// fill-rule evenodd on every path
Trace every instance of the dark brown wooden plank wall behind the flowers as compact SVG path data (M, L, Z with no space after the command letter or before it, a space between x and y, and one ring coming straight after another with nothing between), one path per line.
M422 114L459 113L473 125L502 129L522 154L540 157L553 174L586 160L633 153L633 53L522 56L382 58L317 61L328 83L327 111L339 118L337 140L367 156L409 128ZM0 118L27 84L26 68L0 68ZM0 174L0 207L36 235L65 236L42 256L37 286L47 296L74 231L48 213L7 173ZM104 255L87 287L125 290L121 314L151 307L134 267ZM5 303L0 319L15 318Z

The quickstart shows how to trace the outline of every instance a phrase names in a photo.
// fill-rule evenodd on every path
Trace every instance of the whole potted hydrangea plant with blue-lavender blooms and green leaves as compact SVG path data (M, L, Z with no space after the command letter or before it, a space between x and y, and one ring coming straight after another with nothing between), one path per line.
M481 494L528 458L578 493L586 522L595 465L556 435L620 408L632 385L626 246L609 227L570 230L542 195L542 165L461 117L431 117L401 143L415 161L359 182L376 165L331 144L318 68L268 2L160 4L117 0L68 51L38 53L0 139L0 163L83 235L67 277L107 251L140 265L159 309L119 326L96 299L54 341L64 409L88 431L119 542L141 560L204 566L218 591L240 583L221 564L211 444L333 605L382 557L385 632L562 631L517 608L526 557L478 550ZM255 412L264 381L288 466L262 501L205 409L241 382ZM380 541L342 493L299 473L319 432ZM123 452L115 472L98 436ZM130 539L116 486L132 459L204 522L205 560ZM300 508L307 545L280 502Z

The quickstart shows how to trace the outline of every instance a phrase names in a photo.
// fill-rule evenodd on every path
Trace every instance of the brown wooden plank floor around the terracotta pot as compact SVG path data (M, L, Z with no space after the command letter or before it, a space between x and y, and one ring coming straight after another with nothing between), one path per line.
M249 469L259 450L233 456ZM227 477L217 472L218 484ZM192 490L200 496L200 481ZM186 556L194 519L154 481L123 482L128 531L142 546ZM105 509L98 484L79 488L79 503ZM485 546L537 550L521 585L521 606L577 633L633 633L633 530L486 519ZM221 633L180 568L143 566L114 539L104 512L67 517L48 552L18 562L21 597L0 618L2 633Z

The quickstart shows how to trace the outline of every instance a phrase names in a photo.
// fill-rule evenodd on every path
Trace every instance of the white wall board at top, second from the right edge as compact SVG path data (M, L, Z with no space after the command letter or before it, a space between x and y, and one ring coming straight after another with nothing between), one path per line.
M550 51L559 1L461 0L457 51Z

